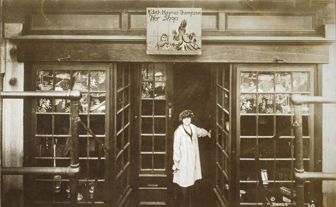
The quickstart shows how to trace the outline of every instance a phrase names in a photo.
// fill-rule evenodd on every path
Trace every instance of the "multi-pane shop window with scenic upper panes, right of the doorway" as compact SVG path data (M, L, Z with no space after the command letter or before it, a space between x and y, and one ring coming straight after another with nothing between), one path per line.
M295 202L293 169L295 140L293 130L286 130L293 123L293 106L290 96L294 93L314 95L314 68L257 68L238 67L237 84L240 114L240 153L255 144L260 155L263 184L269 191L276 192L278 203ZM305 170L313 169L313 106L303 105L302 125ZM270 140L277 133L283 136ZM240 158L241 204L262 204L265 196L259 192L254 170L253 152ZM307 185L309 183L306 183ZM311 187L309 187L311 188ZM309 188L305 194L308 195ZM307 196L306 196L307 197Z

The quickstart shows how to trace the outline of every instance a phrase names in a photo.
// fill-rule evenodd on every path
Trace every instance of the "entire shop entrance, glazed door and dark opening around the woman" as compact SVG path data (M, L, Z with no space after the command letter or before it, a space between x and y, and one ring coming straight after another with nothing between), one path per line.
M173 206L171 168L174 131L181 124L178 116L185 109L192 110L193 124L208 131L212 129L214 70L209 64L201 63L141 63L133 68L134 204ZM215 201L214 146L214 138L199 138L202 179L195 184L200 192L198 206L213 206L210 204Z

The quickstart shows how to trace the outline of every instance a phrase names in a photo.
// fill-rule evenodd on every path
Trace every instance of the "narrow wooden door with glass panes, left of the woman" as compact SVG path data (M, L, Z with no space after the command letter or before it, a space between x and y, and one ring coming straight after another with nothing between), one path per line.
M134 146L137 154L136 205L167 205L168 104L172 83L166 64L138 64L134 70Z

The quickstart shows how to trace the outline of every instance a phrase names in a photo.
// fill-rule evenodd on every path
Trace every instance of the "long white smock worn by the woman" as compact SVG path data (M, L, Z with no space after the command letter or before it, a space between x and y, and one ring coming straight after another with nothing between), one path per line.
M188 187L201 179L200 153L198 150L198 137L206 136L205 129L190 124L193 132L193 141L180 125L174 132L174 167L178 168L174 174L173 182L181 187ZM173 167L173 168L174 168Z

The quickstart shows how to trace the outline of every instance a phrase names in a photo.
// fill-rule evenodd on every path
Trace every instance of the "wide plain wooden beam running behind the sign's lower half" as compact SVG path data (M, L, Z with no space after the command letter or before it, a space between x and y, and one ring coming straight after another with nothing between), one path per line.
M328 63L328 45L203 45L202 55L149 55L145 44L18 44L18 61ZM280 61L281 63L281 61Z

